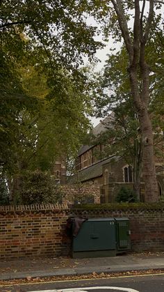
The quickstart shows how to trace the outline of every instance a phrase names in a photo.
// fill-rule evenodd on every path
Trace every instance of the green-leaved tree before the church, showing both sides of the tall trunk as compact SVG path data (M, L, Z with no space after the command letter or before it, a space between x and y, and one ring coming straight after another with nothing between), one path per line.
M161 40L163 37L161 36ZM156 52L151 54L156 43ZM147 45L147 60L151 64L151 70L158 72L151 74L150 79L150 102L149 114L151 115L152 126L154 130L154 151L156 157L163 156L163 71L161 68L162 59L159 52L162 51L162 43L158 41L158 35L154 36L154 41L149 41ZM133 184L134 190L140 197L140 178L142 176L142 141L140 139L140 130L138 116L133 106L131 96L130 82L128 72L128 56L123 46L119 52L111 52L108 55L104 70L98 74L95 82L95 106L99 117L108 115L104 120L106 131L97 137L97 143L106 145L105 155L115 155L124 158L124 160L133 166ZM158 76L158 78L157 78ZM94 76L96 80L96 76ZM108 141L111 141L108 144Z

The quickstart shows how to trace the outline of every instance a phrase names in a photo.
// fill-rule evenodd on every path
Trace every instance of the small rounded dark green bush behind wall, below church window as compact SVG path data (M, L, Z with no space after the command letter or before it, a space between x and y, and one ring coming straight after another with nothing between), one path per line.
M138 199L133 190L130 190L126 187L121 187L120 191L117 193L115 197L115 201L118 203L120 202L135 203L138 201Z

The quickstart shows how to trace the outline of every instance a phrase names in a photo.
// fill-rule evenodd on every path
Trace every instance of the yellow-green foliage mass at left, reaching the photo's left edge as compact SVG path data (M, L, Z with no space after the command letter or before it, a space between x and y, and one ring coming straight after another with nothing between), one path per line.
M15 63L15 72L20 75L17 79L1 80L5 89L0 96L0 164L10 180L10 201L16 202L19 196L13 178L35 169L53 171L60 155L74 157L90 123L88 96L82 86L79 91L69 72L63 72L63 88L58 92L48 86L46 70ZM10 82L17 86L20 78L22 86L15 93Z

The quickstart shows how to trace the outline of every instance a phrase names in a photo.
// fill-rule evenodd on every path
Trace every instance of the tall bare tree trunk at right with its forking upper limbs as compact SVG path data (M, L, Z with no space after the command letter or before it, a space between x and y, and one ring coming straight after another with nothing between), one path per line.
M154 146L149 107L149 66L146 62L145 47L149 40L151 24L154 20L154 0L149 0L148 13L145 13L145 3L134 0L133 37L129 31L122 0L111 0L117 14L118 24L124 38L126 51L129 55L129 79L131 94L140 121L143 144L143 178L145 180L145 201L158 201L158 186L154 163Z

